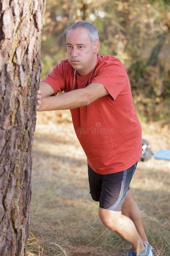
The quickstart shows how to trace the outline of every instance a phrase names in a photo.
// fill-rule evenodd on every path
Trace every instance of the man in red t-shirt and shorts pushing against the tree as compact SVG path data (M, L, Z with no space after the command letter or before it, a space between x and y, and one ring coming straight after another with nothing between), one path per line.
M101 221L131 243L127 256L137 252L152 256L129 190L141 157L142 132L126 69L117 58L98 54L98 31L89 22L74 23L66 41L68 59L40 82L37 109L70 109L87 156L90 194L99 201ZM65 94L56 96L58 91Z

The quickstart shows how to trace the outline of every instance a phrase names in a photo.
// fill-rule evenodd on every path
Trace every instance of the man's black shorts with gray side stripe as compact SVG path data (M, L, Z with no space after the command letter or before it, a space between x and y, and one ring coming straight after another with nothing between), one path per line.
M127 170L101 175L88 165L90 194L100 208L121 211L136 166L137 162Z

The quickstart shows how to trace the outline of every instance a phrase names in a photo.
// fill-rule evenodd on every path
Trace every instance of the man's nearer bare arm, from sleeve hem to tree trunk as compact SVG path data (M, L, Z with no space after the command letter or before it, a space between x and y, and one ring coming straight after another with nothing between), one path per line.
M40 90L41 91L41 90ZM104 85L92 83L83 89L77 89L58 96L37 100L38 111L79 108L94 102L96 99L108 95ZM38 96L37 96L38 98Z

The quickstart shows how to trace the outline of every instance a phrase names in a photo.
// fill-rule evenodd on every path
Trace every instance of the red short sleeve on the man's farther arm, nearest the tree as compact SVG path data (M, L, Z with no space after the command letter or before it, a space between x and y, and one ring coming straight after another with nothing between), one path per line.
M65 82L62 62L60 64L57 64L53 68L52 72L49 73L42 81L46 82L53 88L54 95L57 95L59 91L64 91Z

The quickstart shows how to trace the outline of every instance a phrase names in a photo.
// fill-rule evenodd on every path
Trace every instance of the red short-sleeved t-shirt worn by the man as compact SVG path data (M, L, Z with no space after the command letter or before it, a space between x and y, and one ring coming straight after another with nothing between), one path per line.
M91 72L75 75L75 89L88 86ZM68 59L43 79L55 91L72 91L74 69ZM98 55L90 84L99 82L109 92L91 104L70 109L74 129L91 169L110 174L128 169L142 153L142 130L136 115L129 78L122 62Z

